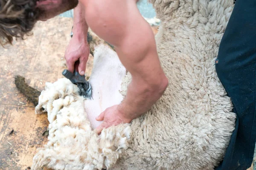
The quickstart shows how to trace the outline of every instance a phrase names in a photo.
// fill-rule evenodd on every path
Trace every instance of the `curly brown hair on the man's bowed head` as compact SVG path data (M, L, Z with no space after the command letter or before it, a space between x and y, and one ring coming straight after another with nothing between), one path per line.
M0 0L0 44L28 35L38 18L38 0Z

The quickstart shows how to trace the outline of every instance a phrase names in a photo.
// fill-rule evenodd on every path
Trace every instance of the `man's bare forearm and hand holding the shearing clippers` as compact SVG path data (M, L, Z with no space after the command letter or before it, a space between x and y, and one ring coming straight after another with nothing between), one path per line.
M89 57L90 48L87 43L88 26L84 18L84 6L80 2L74 8L73 37L67 47L65 58L67 68L73 72L76 61L79 61L78 71L81 75L86 69L86 62Z

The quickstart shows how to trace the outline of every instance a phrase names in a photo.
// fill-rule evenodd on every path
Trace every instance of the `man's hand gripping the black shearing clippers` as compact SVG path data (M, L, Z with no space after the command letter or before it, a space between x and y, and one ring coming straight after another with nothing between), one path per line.
M84 75L89 54L90 47L87 43L87 37L79 38L78 35L74 34L65 52L67 69L73 73L76 69L74 68L75 62L79 61L79 74Z

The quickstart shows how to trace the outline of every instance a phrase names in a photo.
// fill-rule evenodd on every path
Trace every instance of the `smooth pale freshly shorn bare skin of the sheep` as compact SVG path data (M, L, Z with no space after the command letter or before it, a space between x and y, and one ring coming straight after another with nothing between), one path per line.
M96 121L95 118L106 108L118 105L122 101L123 96L119 90L126 69L108 43L92 35L89 44L94 56L93 69L88 80L92 87L93 100L86 100L84 108L92 128L96 128L102 122Z

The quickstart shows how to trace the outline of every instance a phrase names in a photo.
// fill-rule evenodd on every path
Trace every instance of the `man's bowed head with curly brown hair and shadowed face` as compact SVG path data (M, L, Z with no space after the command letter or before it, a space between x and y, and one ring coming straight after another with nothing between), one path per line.
M75 8L78 0L0 0L0 44L23 38L38 20Z

